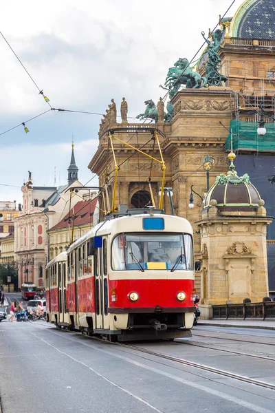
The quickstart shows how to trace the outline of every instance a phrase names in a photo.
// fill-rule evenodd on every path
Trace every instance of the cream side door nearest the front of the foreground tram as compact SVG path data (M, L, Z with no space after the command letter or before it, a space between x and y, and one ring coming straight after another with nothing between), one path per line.
M103 239L102 248L94 255L96 328L109 329L108 317L108 276L107 276L107 239Z

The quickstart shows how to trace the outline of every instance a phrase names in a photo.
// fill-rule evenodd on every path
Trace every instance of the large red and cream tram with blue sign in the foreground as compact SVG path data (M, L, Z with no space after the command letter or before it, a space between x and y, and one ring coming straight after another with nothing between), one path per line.
M184 218L107 218L49 262L46 277L47 321L58 327L111 341L190 336L195 274Z

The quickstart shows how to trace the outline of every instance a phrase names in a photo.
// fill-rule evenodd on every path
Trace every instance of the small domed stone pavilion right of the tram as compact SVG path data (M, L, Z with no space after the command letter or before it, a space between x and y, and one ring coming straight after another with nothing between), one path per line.
M259 192L248 174L239 177L230 152L228 173L217 177L203 202L197 226L201 235L201 304L241 303L267 296L267 225Z

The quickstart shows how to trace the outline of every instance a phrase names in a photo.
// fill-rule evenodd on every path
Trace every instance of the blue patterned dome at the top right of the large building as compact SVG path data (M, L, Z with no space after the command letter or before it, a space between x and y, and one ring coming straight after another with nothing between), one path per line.
M274 0L246 0L234 15L230 35L244 39L274 40Z

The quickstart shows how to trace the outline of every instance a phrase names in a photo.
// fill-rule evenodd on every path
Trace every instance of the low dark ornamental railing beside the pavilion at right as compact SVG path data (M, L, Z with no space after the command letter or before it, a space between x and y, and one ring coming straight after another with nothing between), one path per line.
M275 301L213 306L213 319L275 319Z

